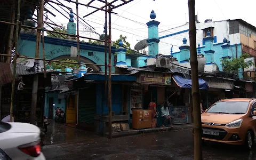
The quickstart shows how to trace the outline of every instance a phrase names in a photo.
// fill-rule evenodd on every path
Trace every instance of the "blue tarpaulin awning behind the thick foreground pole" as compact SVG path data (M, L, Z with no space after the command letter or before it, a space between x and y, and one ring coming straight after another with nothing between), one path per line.
M191 79L186 79L179 75L173 75L172 78L173 78L174 82L181 88L184 88L184 89L192 88L192 80ZM200 90L208 90L209 89L209 85L204 81L204 79L198 78L198 82L199 82Z

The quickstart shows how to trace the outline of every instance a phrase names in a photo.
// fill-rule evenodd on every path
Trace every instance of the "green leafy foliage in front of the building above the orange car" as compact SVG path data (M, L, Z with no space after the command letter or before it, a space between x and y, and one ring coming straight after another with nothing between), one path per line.
M221 66L223 68L223 71L227 73L233 73L236 74L238 73L239 68L249 68L253 66L252 61L246 61L246 58L249 58L250 55L248 53L244 53L240 56L240 58L221 58Z

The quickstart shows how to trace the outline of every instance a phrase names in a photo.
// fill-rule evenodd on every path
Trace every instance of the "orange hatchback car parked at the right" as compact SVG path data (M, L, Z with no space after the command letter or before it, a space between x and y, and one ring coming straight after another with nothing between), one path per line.
M256 135L256 99L215 102L201 115L202 140L245 145L252 149Z

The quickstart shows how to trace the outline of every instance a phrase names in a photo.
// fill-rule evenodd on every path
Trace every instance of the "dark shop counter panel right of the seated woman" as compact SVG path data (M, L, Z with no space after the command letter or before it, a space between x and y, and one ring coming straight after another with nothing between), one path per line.
M172 106L169 108L170 115L173 116L173 124L188 123L188 108L186 106Z

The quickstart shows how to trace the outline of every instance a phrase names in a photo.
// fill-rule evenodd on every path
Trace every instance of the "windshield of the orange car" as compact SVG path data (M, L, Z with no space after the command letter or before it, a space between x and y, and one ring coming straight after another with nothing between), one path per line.
M212 105L206 113L218 113L218 114L245 114L249 102L242 101L220 101Z

